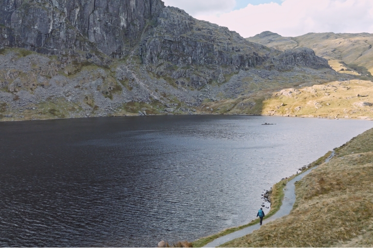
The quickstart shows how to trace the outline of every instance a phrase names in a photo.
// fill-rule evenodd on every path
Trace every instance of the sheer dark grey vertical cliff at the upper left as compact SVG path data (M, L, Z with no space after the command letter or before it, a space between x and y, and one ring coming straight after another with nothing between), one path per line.
M0 0L0 47L128 53L161 0Z

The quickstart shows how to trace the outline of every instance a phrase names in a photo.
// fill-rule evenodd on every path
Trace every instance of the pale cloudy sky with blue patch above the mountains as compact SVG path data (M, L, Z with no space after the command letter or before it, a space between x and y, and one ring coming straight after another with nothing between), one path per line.
M163 0L244 38L263 31L373 33L373 0Z

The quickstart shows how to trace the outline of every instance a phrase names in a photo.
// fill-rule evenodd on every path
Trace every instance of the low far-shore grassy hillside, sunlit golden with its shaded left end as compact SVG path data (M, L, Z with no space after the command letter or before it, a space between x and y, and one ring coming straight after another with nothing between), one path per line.
M354 79L298 86L275 93L260 92L254 96L244 95L205 103L199 110L230 114L372 119L373 82Z

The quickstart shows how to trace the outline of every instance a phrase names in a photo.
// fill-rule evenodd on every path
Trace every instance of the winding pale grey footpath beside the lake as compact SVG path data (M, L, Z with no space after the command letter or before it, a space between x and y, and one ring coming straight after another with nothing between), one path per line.
M325 160L325 163L329 162L329 160L333 156L334 156L334 151L333 151L332 155ZM290 214L290 211L293 208L293 205L294 205L294 202L295 202L295 185L294 185L295 182L301 180L303 177L305 177L305 175L308 175L313 169L316 169L316 168L317 167L311 168L310 170L305 171L304 173L301 173L300 175L296 176L295 178L293 178L292 180L290 180L288 182L288 184L284 188L285 196L284 196L284 200L282 201L282 205L281 205L280 209L274 215L272 215L271 217L269 217L267 219L264 219L263 220L263 225L268 223L268 222L271 222L271 221L273 221L277 218L280 218L280 217L283 217L283 216L286 216L286 215ZM229 241L234 240L236 238L240 238L240 237L245 236L247 234L253 233L254 230L258 230L259 228L260 228L259 223L255 224L253 226L250 226L250 227L246 227L246 228L244 228L242 230L239 230L237 232L230 233L228 235L217 238L214 241L208 243L207 245L205 245L203 247L218 247L222 244L225 244L226 242L229 242Z

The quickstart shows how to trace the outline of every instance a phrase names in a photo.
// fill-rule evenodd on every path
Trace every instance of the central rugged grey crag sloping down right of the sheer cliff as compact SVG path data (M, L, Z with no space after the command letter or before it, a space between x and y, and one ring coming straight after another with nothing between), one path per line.
M155 27L143 34L136 54L157 75L198 89L212 80L223 82L224 74L261 65L270 51L237 32L166 7Z

